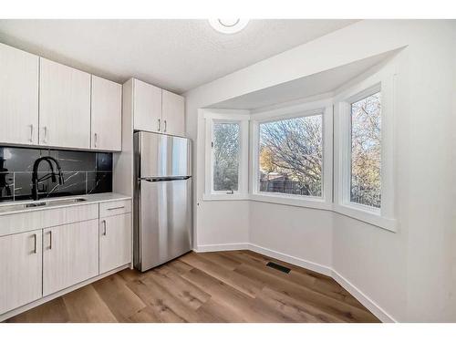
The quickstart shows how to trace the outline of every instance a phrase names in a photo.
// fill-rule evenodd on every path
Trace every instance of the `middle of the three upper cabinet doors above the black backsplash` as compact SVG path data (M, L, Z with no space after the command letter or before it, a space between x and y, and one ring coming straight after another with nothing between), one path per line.
M90 148L90 75L40 58L39 144Z

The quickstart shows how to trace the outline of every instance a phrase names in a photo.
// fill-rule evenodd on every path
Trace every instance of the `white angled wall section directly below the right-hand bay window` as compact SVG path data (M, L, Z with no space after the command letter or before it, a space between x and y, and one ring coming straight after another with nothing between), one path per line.
M332 268L397 321L406 318L406 234L334 213Z

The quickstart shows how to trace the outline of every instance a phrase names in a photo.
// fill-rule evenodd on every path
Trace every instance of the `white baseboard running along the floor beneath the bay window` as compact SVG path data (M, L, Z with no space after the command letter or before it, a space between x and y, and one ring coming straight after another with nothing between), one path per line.
M248 243L241 243L241 244L203 244L197 246L194 249L195 252L220 252L220 251L235 251L235 250L243 250L247 249L259 254L264 254L266 256L270 256L277 260L282 260L285 263L295 264L296 266L300 266L306 268L310 271L317 272L322 275L328 275L332 277L339 285L344 287L350 295L353 295L358 301L368 308L368 310L381 322L390 323L390 322L398 322L393 316L389 315L384 309L382 309L378 304L370 299L368 295L365 295L356 285L350 283L343 275L337 273L336 270L332 269L329 266L325 266L323 264L316 264L314 262L296 258L295 256L284 254L281 252L276 252L274 250L264 248L257 244L248 244Z

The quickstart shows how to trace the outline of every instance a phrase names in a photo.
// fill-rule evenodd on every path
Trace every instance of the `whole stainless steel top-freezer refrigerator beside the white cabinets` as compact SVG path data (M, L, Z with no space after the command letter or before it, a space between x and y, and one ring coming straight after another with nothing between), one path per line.
M192 249L192 140L134 133L134 265L146 271Z

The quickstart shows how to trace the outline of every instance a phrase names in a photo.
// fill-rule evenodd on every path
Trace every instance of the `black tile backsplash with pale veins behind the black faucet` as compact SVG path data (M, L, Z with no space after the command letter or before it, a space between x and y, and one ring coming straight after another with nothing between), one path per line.
M46 192L40 198L112 192L112 153L0 146L0 202L32 199L33 164L43 156L57 159L65 183L40 181L39 192ZM48 171L41 162L38 178Z

